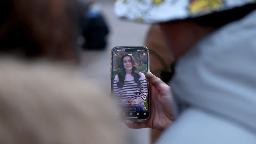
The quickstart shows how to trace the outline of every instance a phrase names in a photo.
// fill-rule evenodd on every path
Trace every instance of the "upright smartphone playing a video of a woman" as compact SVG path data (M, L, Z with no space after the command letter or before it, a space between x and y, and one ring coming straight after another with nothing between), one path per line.
M122 119L145 121L150 116L149 51L144 46L114 47L111 50L111 92Z

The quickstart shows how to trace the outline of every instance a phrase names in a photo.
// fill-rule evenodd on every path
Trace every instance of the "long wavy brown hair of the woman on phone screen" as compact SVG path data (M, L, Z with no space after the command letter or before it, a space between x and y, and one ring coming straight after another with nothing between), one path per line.
M117 86L118 86L118 88L122 88L123 84L124 84L126 71L123 66L123 58L126 56L129 56L132 60L132 65L133 65L132 76L134 77L134 81L138 84L137 86L140 87L140 81L139 81L140 73L137 72L138 64L137 64L136 60L133 58L133 56L128 55L128 54L121 57L121 63L119 65L120 70L118 72L119 81L117 82Z

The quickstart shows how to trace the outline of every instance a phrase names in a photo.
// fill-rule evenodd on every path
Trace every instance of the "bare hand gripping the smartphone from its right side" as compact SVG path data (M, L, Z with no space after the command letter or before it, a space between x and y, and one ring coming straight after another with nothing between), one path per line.
M151 116L147 121L142 123L126 120L125 124L134 129L152 128L163 131L174 121L172 114L171 89L151 72L147 72L146 77L151 84Z

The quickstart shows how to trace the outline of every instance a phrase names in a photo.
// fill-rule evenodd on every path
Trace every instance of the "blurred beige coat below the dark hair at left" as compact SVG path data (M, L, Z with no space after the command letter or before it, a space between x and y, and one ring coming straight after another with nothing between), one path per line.
M1 144L123 143L111 97L73 71L0 59Z

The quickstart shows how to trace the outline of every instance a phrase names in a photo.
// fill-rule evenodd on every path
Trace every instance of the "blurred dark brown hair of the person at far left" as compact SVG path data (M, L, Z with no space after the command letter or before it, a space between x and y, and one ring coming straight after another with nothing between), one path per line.
M77 60L76 0L0 0L0 52Z

